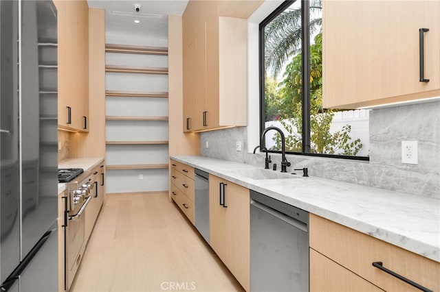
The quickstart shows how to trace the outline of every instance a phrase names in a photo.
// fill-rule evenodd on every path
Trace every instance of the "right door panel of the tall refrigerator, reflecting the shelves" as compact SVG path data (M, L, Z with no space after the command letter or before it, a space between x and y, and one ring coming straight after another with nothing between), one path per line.
M57 142L43 143L48 133L57 132L58 112L43 115L45 110L40 108L39 100L39 92L46 89L39 82L45 70L39 69L38 44L43 38L39 31L43 31L44 25L56 26L56 9L52 1L22 1L21 6L21 196L25 256L58 217ZM58 108L57 99L52 99L52 104L52 108ZM52 123L47 123L47 119L52 119Z

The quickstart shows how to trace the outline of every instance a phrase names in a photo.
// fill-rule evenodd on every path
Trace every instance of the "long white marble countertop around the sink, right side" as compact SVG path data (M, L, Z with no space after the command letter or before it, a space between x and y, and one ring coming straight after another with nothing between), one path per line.
M439 199L303 178L302 171L296 178L252 180L239 173L263 166L203 156L171 158L440 263Z

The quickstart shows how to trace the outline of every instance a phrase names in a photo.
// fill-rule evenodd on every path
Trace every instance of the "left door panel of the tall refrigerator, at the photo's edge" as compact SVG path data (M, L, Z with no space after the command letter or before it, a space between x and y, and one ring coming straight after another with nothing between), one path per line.
M20 263L17 1L0 1L0 23L0 283L3 283Z

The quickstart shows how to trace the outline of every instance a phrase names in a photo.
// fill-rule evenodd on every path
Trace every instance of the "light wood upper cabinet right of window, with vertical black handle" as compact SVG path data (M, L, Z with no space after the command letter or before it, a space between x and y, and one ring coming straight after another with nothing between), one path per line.
M325 108L439 96L439 15L440 1L323 1Z

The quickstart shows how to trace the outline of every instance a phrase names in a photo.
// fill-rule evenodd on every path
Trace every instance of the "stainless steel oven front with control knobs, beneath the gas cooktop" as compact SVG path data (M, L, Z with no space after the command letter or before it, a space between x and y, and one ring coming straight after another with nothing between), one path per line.
M83 258L85 245L84 212L92 199L90 171L85 171L72 182L66 184L65 198L65 290L75 278L76 271Z

